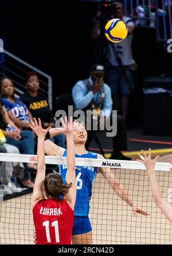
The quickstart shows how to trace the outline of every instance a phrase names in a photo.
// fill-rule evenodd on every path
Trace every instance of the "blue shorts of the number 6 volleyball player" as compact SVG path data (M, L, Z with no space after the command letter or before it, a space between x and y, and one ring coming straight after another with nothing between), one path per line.
M72 235L85 234L92 231L91 223L88 216L75 216L73 222Z

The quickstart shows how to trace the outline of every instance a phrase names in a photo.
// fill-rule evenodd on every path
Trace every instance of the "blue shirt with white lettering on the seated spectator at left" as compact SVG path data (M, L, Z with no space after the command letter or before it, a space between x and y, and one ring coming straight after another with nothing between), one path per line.
M29 122L29 116L28 116L28 108L26 105L23 103L21 99L15 98L16 102L11 103L9 100L2 98L3 105L6 108L6 111L10 111L15 116L21 121Z

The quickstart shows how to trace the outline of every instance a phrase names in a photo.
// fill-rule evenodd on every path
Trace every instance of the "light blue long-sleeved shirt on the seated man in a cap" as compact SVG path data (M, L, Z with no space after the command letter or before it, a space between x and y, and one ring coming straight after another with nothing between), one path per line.
M89 84L92 86L91 77L89 77ZM105 97L102 110L104 111L104 116L109 117L112 112L112 96L111 88L107 84L104 84L104 92ZM83 110L83 108L87 107L89 103L91 103L93 98L96 99L97 95L96 93L94 95L92 91L87 92L84 82L80 80L73 86L72 97L76 108L78 110Z

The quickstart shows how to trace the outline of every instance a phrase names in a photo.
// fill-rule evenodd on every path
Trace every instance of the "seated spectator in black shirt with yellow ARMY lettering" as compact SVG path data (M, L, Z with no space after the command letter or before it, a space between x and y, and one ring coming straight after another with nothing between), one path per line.
M40 91L40 81L38 74L30 71L26 75L27 91L21 96L32 116L38 120L41 118L42 127L55 127L54 116L49 108L48 99L44 93ZM65 135L60 134L53 138L53 142L62 148L65 148Z

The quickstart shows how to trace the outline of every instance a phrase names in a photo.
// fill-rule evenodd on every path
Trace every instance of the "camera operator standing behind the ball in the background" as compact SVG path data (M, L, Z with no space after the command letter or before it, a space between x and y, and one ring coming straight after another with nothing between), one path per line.
M106 3L106 4L105 4ZM107 7L104 7L107 6ZM92 28L92 39L98 39L104 35L104 26L113 18L123 20L128 27L128 36L121 43L111 43L105 39L105 59L107 63L106 82L111 87L113 109L126 118L128 108L128 96L134 92L133 71L136 63L132 58L132 35L134 22L130 17L124 16L122 1L102 1L95 16L95 25ZM103 39L104 40L104 39Z

